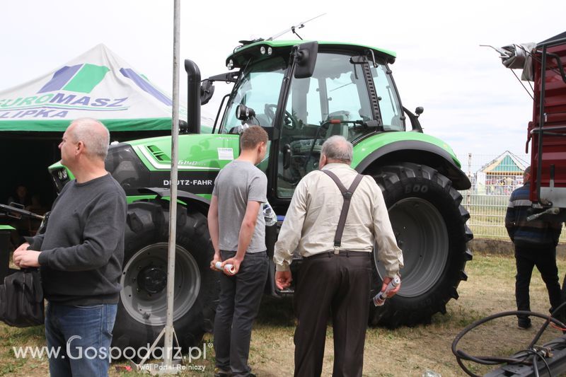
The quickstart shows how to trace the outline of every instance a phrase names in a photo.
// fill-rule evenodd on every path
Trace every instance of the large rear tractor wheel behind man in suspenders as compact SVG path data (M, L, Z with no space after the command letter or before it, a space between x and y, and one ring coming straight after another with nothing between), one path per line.
M446 313L446 303L458 298L458 284L467 279L470 214L460 205L462 196L451 180L429 166L399 163L372 175L383 192L405 267L398 294L379 308L371 306L370 324L429 323L434 313ZM383 265L376 265L372 296L385 274Z

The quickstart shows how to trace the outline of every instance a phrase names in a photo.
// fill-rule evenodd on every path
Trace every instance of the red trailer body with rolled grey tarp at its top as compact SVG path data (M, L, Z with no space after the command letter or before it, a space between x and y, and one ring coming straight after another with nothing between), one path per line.
M532 45L498 50L505 66L523 69L521 79L533 82L531 201L545 214L566 219L566 32Z

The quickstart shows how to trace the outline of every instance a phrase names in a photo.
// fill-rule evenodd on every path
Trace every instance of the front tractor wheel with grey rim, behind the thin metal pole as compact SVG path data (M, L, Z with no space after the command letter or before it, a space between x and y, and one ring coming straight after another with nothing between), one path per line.
M112 339L122 350L149 347L166 325L168 207L166 201L128 207L122 291ZM177 211L173 326L186 350L212 330L219 285L209 269L214 249L206 217L182 206ZM124 356L130 358L130 353Z

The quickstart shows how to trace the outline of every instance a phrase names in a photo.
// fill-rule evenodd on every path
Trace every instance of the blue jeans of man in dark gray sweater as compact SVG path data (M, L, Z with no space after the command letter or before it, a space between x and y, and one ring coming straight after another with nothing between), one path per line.
M67 306L48 303L45 313L47 347L53 377L106 377L117 304Z

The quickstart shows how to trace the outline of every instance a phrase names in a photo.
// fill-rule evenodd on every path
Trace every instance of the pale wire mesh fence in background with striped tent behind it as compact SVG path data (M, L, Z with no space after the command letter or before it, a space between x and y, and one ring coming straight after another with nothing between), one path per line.
M461 191L462 205L470 212L468 226L475 238L509 239L505 212L511 192L523 185L523 171L529 156L505 151L500 155L468 153L458 159L470 178L470 190ZM562 228L560 242L566 242Z

